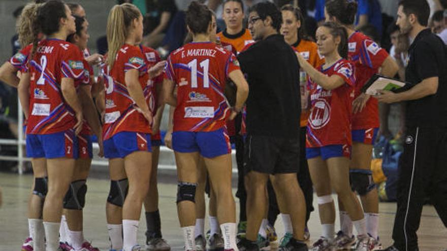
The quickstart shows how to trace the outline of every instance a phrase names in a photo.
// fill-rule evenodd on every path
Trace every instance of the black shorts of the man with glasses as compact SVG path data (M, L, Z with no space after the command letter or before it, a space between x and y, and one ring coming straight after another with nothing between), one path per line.
M297 173L300 168L300 139L247 135L244 171L268 174Z

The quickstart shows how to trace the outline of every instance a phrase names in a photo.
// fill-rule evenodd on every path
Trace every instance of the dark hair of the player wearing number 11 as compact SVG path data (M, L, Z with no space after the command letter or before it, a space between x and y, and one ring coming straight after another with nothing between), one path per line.
M191 32L195 34L206 33L212 21L212 14L207 6L193 1L186 10L185 19Z

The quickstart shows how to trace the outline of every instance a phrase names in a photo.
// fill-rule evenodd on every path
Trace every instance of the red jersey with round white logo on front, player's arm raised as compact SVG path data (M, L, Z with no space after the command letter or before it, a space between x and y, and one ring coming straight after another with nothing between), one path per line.
M356 83L354 65L346 59L340 59L327 69L319 69L328 77L337 75L345 84L325 90L309 79L310 115L307 123L306 147L324 147L329 145L352 145L351 119Z

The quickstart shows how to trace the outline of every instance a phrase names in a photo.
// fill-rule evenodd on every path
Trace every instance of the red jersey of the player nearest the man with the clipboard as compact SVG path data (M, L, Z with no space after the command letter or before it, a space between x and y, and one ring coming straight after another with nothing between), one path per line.
M348 58L356 67L356 93L358 97L363 85L378 73L388 52L361 32L354 32L348 41ZM353 115L353 130L379 127L378 101L370 98L362 112Z

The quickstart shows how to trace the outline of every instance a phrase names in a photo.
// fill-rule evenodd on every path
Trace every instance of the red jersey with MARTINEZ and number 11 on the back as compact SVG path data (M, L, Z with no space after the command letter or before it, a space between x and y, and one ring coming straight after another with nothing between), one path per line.
M178 86L174 131L214 131L230 115L223 94L228 75L240 69L233 53L218 45L189 43L168 57L166 74Z

